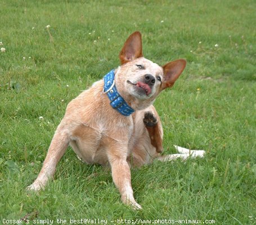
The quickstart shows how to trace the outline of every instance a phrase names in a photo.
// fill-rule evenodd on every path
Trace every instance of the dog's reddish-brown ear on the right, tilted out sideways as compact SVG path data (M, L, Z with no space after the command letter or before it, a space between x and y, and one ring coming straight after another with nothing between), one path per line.
M168 62L163 66L164 69L164 80L162 84L162 89L172 87L174 82L179 78L182 71L185 69L186 60L176 60L173 62Z

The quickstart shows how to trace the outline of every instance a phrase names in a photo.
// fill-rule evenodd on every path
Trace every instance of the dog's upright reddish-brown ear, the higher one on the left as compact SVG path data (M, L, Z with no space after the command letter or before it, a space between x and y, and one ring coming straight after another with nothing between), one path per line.
M122 65L142 56L141 33L135 31L124 43L124 46L119 53L119 59Z

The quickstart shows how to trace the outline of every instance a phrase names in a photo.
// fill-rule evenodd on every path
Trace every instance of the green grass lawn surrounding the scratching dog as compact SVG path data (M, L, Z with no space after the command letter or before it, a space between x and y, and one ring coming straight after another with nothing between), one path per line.
M1 1L0 224L28 213L54 224L57 218L256 224L255 10L249 0ZM66 105L119 65L135 30L147 59L187 60L177 84L155 102L165 153L179 145L204 149L205 158L133 169L138 212L120 203L110 173L82 164L71 149L46 191L28 194Z

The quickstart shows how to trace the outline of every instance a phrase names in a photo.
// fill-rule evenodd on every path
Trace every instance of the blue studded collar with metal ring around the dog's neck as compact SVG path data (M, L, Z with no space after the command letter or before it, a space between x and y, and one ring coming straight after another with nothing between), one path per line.
M109 97L110 105L124 116L131 115L134 110L124 101L123 97L119 95L115 87L115 73L111 70L104 76L104 88L103 93Z

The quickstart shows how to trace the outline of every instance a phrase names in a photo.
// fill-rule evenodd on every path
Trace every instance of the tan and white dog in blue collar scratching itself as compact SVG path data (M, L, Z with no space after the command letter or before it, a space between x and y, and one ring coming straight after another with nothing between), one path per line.
M41 172L28 190L46 186L70 145L85 163L110 165L123 203L141 209L133 196L131 165L140 167L154 159L169 161L190 155L184 149L182 154L160 155L163 128L152 105L161 91L173 86L186 61L179 59L159 66L145 59L139 31L128 37L119 59L118 68L68 104Z

